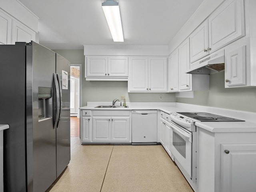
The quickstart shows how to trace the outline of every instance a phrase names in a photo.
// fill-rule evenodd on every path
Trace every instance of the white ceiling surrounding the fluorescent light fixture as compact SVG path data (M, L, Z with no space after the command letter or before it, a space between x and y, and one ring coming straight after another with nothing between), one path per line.
M105 0L20 0L39 17L40 44L50 49L83 45L168 45L204 0L116 0L124 42L113 42Z

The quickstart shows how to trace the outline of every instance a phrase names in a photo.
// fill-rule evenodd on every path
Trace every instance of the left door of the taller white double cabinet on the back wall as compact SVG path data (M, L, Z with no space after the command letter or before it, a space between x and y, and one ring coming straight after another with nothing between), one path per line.
M128 92L148 90L148 58L129 58Z

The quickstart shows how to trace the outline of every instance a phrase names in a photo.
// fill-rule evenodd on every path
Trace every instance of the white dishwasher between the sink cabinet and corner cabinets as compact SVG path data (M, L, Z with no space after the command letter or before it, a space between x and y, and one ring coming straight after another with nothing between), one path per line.
M132 110L132 145L156 142L157 110Z

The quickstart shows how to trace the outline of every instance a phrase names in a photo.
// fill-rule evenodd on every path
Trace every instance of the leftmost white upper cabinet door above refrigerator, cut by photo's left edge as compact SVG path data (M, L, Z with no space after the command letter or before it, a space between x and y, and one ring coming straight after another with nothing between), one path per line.
M0 12L0 45L11 44L12 18Z

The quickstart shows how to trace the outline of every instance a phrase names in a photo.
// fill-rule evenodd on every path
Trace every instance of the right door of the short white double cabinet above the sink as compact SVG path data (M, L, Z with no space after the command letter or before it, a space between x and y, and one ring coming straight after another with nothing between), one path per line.
M128 57L108 57L108 74L112 77L128 77Z

